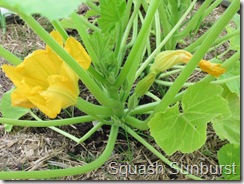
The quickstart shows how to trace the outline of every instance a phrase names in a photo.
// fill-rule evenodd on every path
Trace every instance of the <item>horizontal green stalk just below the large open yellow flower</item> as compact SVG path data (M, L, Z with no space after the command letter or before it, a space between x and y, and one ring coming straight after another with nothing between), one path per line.
M106 116L100 116L105 118ZM72 125L78 123L85 123L96 120L92 116L81 116L75 118L59 119L59 120L47 120L47 121L31 121L31 120L16 120L10 118L0 118L0 123L10 124L22 127L49 127L49 126L63 126Z

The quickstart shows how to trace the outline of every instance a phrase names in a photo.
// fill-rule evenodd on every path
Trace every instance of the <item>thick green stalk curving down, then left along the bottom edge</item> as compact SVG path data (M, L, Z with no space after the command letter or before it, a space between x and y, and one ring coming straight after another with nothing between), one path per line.
M95 170L102 166L110 157L113 152L116 138L118 135L118 127L112 126L108 144L104 152L94 161L83 166L72 167L68 169L55 169L55 170L43 170L43 171L12 171L12 172L0 172L0 179L45 179L56 178L64 176L72 176L77 174L84 174L89 171Z

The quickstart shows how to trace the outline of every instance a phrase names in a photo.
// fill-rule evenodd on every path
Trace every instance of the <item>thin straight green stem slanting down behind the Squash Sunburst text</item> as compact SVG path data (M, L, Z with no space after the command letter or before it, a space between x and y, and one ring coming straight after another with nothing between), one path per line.
M151 144L145 141L141 136L139 136L134 130L130 127L124 125L122 127L125 131L127 131L132 137L134 137L137 141L143 144L149 151L151 151L154 155L160 158L164 163L166 163L169 167L179 171L180 173L186 175L186 177L193 180L202 180L202 178L189 174L187 171L184 171L182 168L175 166L170 160L164 157L158 150L156 150Z

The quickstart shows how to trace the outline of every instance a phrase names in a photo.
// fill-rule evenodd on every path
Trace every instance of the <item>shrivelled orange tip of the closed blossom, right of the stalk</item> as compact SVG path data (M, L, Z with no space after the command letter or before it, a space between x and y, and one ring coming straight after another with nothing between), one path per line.
M208 74L218 77L221 74L225 73L226 69L221 67L221 64L211 63L206 60L201 60L198 64L202 71L207 72Z

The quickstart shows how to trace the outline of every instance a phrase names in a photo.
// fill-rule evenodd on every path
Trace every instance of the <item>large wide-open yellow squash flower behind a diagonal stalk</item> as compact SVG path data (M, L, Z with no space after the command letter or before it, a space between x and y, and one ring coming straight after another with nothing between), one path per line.
M61 46L59 32L50 34ZM69 37L65 50L87 70L91 58L83 46ZM55 118L62 108L75 105L79 95L78 77L49 46L36 50L18 66L3 65L3 71L16 89L11 94L13 106L39 108L49 118Z

